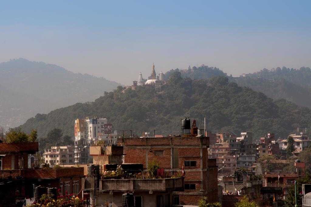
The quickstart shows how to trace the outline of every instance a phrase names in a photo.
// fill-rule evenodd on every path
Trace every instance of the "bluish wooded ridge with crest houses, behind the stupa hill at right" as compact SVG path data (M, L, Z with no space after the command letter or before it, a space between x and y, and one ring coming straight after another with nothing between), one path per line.
M309 67L301 67L298 70L277 67L271 70L263 69L253 74L244 74L244 77L232 77L218 68L202 65L200 67L189 66L188 70L170 70L165 75L169 76L174 71L180 71L182 77L192 79L226 76L231 82L262 92L274 100L286 99L297 105L311 108L311 70Z

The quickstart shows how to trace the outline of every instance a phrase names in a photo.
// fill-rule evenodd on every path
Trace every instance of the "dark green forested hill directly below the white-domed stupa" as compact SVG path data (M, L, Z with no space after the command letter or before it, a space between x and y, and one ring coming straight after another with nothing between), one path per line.
M39 137L53 128L64 135L74 134L74 120L86 116L108 118L114 130L134 130L134 134L178 134L180 118L201 115L207 119L207 130L212 132L253 132L255 137L274 132L287 137L297 127L310 128L311 111L284 99L274 101L248 87L229 83L227 77L212 77L208 81L184 81L179 72L171 75L164 93L158 94L148 86L136 90L118 86L113 92L90 103L77 103L49 114L37 114L21 125L30 132L37 129Z

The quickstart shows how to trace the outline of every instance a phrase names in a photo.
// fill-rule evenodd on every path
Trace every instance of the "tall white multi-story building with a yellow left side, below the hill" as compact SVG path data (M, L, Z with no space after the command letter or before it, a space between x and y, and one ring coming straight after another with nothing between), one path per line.
M100 137L116 138L117 133L111 131L112 124L108 123L107 118L89 118L75 120L75 141L81 139L84 144L89 144L100 139Z

